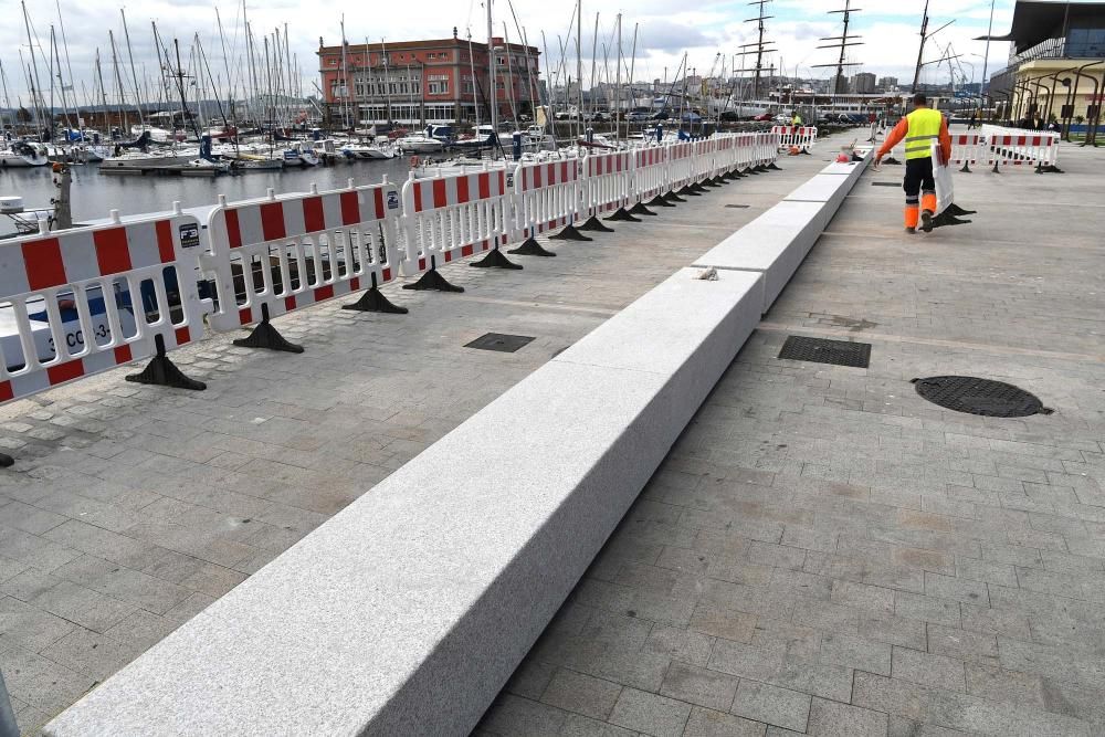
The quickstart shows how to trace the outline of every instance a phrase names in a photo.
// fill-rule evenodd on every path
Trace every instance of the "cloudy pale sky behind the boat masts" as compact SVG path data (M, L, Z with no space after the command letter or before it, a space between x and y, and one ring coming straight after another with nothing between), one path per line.
M570 0L569 0L570 1ZM850 50L849 60L861 62L862 65L851 66L848 74L855 72L872 72L875 75L895 76L902 84L908 85L913 77L913 69L917 57L919 43L920 14L924 0L850 0L852 7L862 10L852 14L849 33L861 38L863 45ZM120 4L117 0L83 0L78 3L63 3L61 18L55 4L56 0L33 0L28 12L32 23L32 38L39 54L40 86L46 88L50 73L45 67L50 49L50 29L54 27L59 40L63 77L70 84L72 69L75 94L84 102L94 88L95 54L98 48L102 60L103 76L106 86L114 87L114 73L110 62L110 45L108 31L114 32L117 53L123 64L122 74L129 75L127 63L128 52L123 35L120 8L126 13L130 35L130 53L138 69L139 86L145 88L144 78L157 76L158 62L156 46L152 41L151 21L157 23L164 46L171 49L172 40L180 41L183 64L189 64L189 49L198 33L211 76L217 77L225 87L229 76L241 84L244 64L241 62L241 50L244 33L242 31L242 6L233 4L233 0L191 0L175 3L166 0L147 0L140 3ZM8 83L8 96L14 105L17 97L24 102L29 99L27 74L23 73L30 63L27 32L23 28L21 13L14 0L7 0L8 22L0 25L0 63ZM513 3L513 4L512 4ZM843 0L771 0L767 6L767 14L774 18L767 21L766 39L774 41L778 50L768 60L777 67L781 64L788 75L797 74L803 77L827 78L834 70L815 69L815 64L830 64L836 61L836 52L817 46L831 42L819 41L821 36L840 35L840 14L830 15L830 10L843 7ZM220 39L215 9L222 20L224 30ZM936 33L928 42L925 61L934 61L944 54L944 49L950 44L953 53L961 54L961 74L967 81L980 81L982 76L982 54L986 44L972 39L987 32L990 18L989 1L977 0L930 0L929 31L938 29L948 21L951 25ZM1009 30L1012 19L1013 0L996 0L993 6L993 33L1002 34ZM362 43L365 39L372 42L381 38L388 41L407 41L425 38L448 38L456 27L461 38L471 31L474 40L486 39L486 10L480 0L418 0L413 3L367 3L347 0L266 0L264 7L246 7L249 21L254 36L261 43L261 38L272 34L277 27L282 30L287 24L291 41L290 51L298 60L304 80L304 92L313 92L313 81L317 81L318 39L330 45L339 43L341 38L341 21L345 20L346 38L350 43ZM757 13L757 7L747 1L726 2L703 0L697 3L683 4L672 0L634 0L632 3L620 3L614 0L589 0L583 2L582 46L585 86L590 78L591 46L594 38L596 13L599 14L599 61L602 66L602 44L610 49L613 60L617 48L615 17L622 13L622 46L625 55L625 66L631 64L631 51L634 29L636 31L636 54L633 64L633 78L649 81L653 78L673 80L676 70L687 55L687 66L696 70L699 75L719 73L722 60L726 69L734 65L734 54L740 44L750 43L756 39L756 24L745 23L746 19ZM565 2L548 2L547 0L495 0L493 7L495 34L503 35L503 23L507 24L507 33L512 41L518 40L520 28L530 45L548 49L548 60L556 67L560 57L560 40L567 44L568 73L575 75L576 46L572 28L575 6ZM515 18L517 21L515 21ZM62 30L64 27L65 44L62 48ZM544 31L544 39L543 39ZM222 52L223 40L227 45L224 61ZM66 60L65 50L69 59ZM988 72L992 73L1004 66L1009 45L991 43L989 50ZM23 54L23 66L20 65L19 53ZM743 62L736 59L739 66ZM613 76L613 62L609 69ZM194 67L192 67L194 72ZM543 61L541 73L546 74L546 62ZM957 74L960 71L957 69ZM207 76L207 73L203 73ZM628 69L623 77L628 76ZM947 63L937 67L926 65L922 74L923 82L946 82L949 72ZM562 77L561 77L562 78ZM134 83L127 82L130 90ZM225 92L223 93L225 96ZM240 96L235 95L235 96ZM129 95L133 97L133 93ZM109 99L110 99L109 95ZM59 103L60 105L60 103Z

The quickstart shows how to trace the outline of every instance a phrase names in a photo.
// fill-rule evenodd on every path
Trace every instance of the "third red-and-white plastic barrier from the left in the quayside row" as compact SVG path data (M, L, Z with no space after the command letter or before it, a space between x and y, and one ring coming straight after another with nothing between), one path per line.
M403 185L403 274L491 251L509 242L513 192L506 170L495 169Z

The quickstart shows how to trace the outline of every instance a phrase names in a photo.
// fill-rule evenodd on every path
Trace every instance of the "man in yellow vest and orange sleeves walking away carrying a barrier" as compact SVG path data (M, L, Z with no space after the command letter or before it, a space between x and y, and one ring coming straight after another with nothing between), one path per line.
M875 166L890 154L899 141L905 140L905 231L916 233L918 219L926 233L933 230L936 214L936 180L933 176L934 140L940 141L940 152L945 161L951 158L951 136L948 122L939 110L928 106L923 94L913 96L913 112L898 120L886 143L875 155ZM919 207L918 207L919 206ZM918 213L919 209L919 213ZM919 217L918 217L919 215Z

